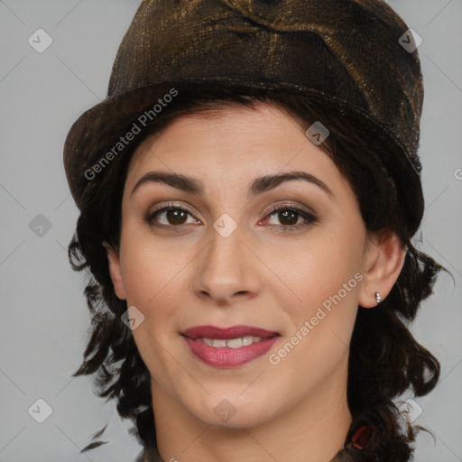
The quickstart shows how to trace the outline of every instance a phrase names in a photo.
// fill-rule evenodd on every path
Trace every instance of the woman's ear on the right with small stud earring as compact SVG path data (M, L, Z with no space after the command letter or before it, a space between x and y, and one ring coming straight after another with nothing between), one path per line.
M378 305L375 293L384 300L401 273L407 246L395 233L386 236L374 236L369 239L366 256L364 279L359 293L359 305L373 308Z

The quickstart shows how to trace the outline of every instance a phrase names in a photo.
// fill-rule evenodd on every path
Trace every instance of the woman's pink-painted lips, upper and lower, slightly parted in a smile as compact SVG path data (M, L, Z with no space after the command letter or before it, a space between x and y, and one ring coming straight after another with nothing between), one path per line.
M189 351L203 363L217 368L231 368L245 365L267 353L279 340L275 331L252 326L216 328L198 326L182 332ZM242 342L232 339L253 339Z

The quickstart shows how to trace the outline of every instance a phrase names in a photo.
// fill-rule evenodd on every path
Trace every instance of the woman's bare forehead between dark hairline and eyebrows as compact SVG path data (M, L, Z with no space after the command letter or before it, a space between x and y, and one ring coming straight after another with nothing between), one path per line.
M282 107L255 102L252 108L239 104L200 108L179 115L161 131L148 136L134 152L128 179L153 166L183 170L257 165L263 170L281 170L288 162L303 164L315 156L329 158L310 143L306 128ZM300 155L300 153L302 155ZM237 164L237 165L236 165ZM293 165L291 165L293 166Z

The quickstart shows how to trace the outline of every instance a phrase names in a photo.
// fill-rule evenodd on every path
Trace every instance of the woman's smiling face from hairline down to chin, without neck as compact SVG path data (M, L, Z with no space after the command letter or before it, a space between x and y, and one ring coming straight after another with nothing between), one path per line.
M110 257L154 406L248 428L344 393L376 256L347 180L290 115L175 119L134 153Z

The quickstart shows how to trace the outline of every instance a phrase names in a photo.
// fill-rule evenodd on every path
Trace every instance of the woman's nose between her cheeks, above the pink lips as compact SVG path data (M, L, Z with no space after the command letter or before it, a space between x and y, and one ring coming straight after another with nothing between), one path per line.
M199 252L194 268L193 291L217 306L254 298L261 287L263 263L254 245L243 240L239 226L230 236L210 229L208 244Z

